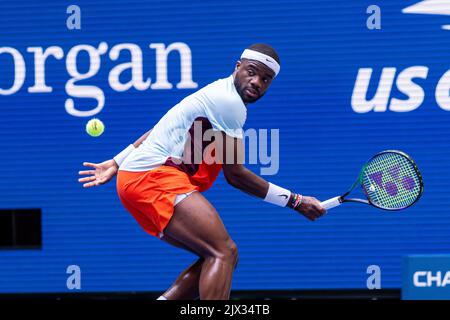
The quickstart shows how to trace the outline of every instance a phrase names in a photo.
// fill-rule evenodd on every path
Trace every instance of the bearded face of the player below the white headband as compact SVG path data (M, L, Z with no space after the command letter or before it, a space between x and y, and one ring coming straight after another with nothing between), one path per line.
M275 72L265 64L242 59L236 64L234 85L245 104L256 102L269 88Z

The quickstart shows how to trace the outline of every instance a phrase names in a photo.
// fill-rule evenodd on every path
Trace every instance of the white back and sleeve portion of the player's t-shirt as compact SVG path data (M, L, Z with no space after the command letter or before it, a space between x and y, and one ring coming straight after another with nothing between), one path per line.
M247 108L236 91L233 75L214 81L171 108L119 169L148 171L169 158L181 159L195 120L242 139L246 118Z

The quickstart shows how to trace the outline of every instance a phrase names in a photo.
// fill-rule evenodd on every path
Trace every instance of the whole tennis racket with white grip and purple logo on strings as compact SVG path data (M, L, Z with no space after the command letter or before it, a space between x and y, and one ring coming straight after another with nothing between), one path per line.
M367 199L347 198L358 185ZM358 179L343 195L321 202L331 209L344 202L359 202L383 210L402 210L416 203L423 193L419 168L410 156L398 150L374 155L361 169Z

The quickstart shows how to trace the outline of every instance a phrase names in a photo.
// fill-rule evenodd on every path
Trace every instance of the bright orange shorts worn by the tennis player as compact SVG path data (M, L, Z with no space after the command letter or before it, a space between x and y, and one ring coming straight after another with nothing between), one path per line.
M188 175L171 166L117 173L117 193L123 206L147 233L158 238L172 218L177 195L195 190L199 187Z

